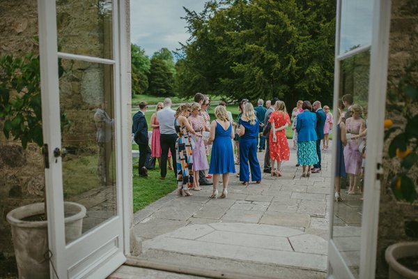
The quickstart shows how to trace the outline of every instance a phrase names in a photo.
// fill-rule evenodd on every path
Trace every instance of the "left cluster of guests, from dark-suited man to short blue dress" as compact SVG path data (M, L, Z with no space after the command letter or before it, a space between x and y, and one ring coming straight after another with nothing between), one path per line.
M213 184L211 197L217 198L222 175L224 187L220 197L226 197L229 174L235 172L232 114L226 111L226 103L221 102L215 108L216 120L212 122L208 114L210 100L202 93L196 93L194 103L180 105L176 111L171 109L171 105L171 99L166 98L164 103L157 104L156 112L151 116L151 151L148 150L146 102L139 103L139 112L133 116L132 133L139 145L139 176L148 176L145 162L147 154L151 153L160 164L160 179L165 179L171 153L180 195L191 196L190 189L199 191L201 185ZM210 164L208 154L212 158ZM212 178L209 174L213 174L213 183L208 180Z

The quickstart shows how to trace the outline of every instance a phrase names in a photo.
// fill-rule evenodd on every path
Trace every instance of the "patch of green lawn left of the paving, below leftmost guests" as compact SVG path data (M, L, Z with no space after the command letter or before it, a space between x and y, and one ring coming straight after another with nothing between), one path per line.
M133 199L134 212L155 202L157 199L173 192L177 188L177 181L173 175L173 171L167 169L166 179L160 180L160 169L158 162L155 169L148 169L148 177L140 177L138 175L138 165L133 166Z

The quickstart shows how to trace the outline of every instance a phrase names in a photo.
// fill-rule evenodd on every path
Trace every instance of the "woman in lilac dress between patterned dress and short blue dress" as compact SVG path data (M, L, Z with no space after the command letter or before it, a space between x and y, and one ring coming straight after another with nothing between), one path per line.
M210 129L205 125L205 119L203 116L200 116L201 105L199 103L192 103L192 113L190 114L188 120L190 125L192 125L193 130L196 132L196 135L202 135L203 131L209 131ZM206 157L205 144L202 137L197 137L196 135L192 136L196 146L193 150L193 172L194 172L194 183L192 190L199 191L201 190L199 185L199 171L209 169L208 158Z

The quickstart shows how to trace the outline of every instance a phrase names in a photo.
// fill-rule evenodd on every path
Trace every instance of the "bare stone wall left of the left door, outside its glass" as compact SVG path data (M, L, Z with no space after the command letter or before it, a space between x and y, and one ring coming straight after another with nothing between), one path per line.
M38 53L35 36L38 36L37 1L0 0L0 56ZM17 271L6 214L22 204L42 200L42 193L36 195L36 189L43 188L44 171L35 144L29 144L23 151L20 144L6 140L2 121L0 131L0 278L8 278Z

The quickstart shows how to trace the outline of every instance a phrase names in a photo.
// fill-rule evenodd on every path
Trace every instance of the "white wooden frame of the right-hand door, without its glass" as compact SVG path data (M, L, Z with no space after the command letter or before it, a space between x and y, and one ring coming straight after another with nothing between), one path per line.
M389 27L390 27L390 0L375 0L373 2L373 26L371 45L359 47L355 50L339 55L339 36L341 20L341 1L337 1L336 15L336 59L334 69L334 107L338 107L339 79L341 61L348 56L353 56L368 49L371 51L370 75L369 75L369 99L368 110L369 126L367 128L366 149L366 174L364 177L364 202L362 211L362 236L360 243L359 278L374 278L376 272L376 250L378 240L378 217L380 203L380 180L377 175L382 172L379 168L382 161L383 149L383 121L385 119L386 89L387 89L387 62L389 57ZM334 122L334 129L336 129ZM336 158L336 144L333 145L332 158ZM335 164L332 164L332 174L335 172ZM333 238L334 218L334 176L331 179L330 199L330 241L328 246L328 278L354 278L347 264L336 248Z

